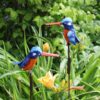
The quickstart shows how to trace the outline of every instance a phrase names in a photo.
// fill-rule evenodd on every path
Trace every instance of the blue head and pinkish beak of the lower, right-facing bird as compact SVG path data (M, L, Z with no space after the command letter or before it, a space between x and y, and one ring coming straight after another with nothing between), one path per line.
M31 58L37 58L38 56L52 56L52 57L59 57L58 54L42 52L41 48L38 46L32 47L30 51Z

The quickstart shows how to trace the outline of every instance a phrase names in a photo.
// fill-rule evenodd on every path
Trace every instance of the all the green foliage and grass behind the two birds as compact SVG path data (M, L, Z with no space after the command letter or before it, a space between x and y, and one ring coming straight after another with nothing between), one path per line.
M67 48L63 28L44 26L47 22L71 17L80 39L71 45L71 80L84 91L71 91L72 100L100 99L100 2L98 0L2 0L0 6L0 100L29 99L28 74L13 61L22 60L34 45L50 45L49 52L60 58L38 59L33 69L34 100L65 100L67 92L55 93L42 86L38 78L51 70L57 84L67 80ZM41 73L40 73L41 72Z

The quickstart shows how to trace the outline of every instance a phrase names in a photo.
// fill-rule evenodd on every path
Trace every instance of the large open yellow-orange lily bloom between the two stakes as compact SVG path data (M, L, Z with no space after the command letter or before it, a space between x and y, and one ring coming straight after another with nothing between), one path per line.
M42 83L47 88L54 88L54 81L57 75L53 76L52 73L49 71L46 73L44 77L38 79L40 83Z

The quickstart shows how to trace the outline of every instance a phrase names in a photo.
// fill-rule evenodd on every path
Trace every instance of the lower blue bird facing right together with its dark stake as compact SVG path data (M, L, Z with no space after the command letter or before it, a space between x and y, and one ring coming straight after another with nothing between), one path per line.
M33 96L32 68L35 66L35 64L37 62L37 57L39 57L39 56L59 57L58 54L42 52L40 47L35 46L35 47L32 47L29 54L25 57L24 60L22 60L21 62L14 62L14 64L19 65L20 68L22 68L23 70L28 70L28 72L29 72L30 100L33 100L32 99L32 96Z

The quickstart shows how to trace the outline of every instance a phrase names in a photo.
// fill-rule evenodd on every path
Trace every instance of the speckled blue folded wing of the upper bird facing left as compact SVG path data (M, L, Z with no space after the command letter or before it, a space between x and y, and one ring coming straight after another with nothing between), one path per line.
M70 30L68 32L67 36L68 36L69 41L72 44L76 45L77 43L79 43L79 39L78 39L78 37L75 34L75 30Z

